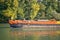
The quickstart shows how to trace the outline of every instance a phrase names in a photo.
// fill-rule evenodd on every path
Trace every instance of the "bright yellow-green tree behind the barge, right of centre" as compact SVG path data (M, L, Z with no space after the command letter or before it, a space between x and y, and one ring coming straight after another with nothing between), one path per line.
M31 8L32 8L32 10L30 13L30 18L31 18L31 20L33 20L37 16L38 11L40 10L40 5L36 1L33 1L31 3Z

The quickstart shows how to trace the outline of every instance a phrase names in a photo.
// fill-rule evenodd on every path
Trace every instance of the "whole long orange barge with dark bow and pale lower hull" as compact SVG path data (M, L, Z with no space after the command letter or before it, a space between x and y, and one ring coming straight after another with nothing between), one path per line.
M56 20L9 20L10 27L60 27L60 21Z

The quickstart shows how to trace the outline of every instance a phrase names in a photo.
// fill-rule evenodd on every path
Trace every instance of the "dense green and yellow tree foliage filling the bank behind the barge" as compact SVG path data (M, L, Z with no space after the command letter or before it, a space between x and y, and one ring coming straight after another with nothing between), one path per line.
M0 0L0 22L26 19L60 20L58 0Z

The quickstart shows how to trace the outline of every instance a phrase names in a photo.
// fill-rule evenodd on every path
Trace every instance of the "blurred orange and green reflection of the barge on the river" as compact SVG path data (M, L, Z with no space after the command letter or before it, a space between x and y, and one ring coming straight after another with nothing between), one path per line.
M20 31L21 30L21 31ZM19 28L14 28L10 31L12 40L59 40L60 31L54 30L40 30L28 31Z

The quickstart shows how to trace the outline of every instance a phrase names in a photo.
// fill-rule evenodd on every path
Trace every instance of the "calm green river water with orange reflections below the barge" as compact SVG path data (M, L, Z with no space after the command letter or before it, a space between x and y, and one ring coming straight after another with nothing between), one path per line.
M60 40L59 27L22 27L11 28L0 24L0 40Z

